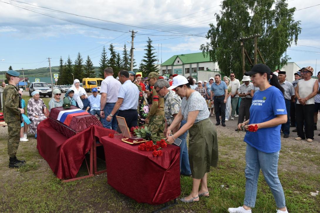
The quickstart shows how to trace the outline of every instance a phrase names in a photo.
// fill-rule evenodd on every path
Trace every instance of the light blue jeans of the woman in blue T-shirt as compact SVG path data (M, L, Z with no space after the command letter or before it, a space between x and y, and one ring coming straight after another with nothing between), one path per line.
M245 152L245 195L244 205L254 208L257 196L260 168L278 208L285 207L284 192L278 177L279 151L266 153L247 144Z

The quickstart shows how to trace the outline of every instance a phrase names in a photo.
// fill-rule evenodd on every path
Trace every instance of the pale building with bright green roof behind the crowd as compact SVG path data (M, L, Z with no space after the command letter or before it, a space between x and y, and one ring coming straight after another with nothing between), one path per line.
M216 73L219 73L218 64L210 59L209 54L203 55L201 52L173 55L161 64L160 74L179 74L185 77L192 76L197 80L207 80L207 77L209 79Z

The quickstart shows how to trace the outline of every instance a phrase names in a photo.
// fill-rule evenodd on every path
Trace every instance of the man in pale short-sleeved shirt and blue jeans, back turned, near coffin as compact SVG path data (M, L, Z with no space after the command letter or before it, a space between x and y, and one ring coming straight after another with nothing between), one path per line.
M120 81L116 80L113 77L113 70L111 67L108 67L104 70L105 79L101 82L100 88L100 117L101 123L104 128L114 129L117 128L117 120L116 118L111 118L111 121L106 120L106 116L108 116L113 107L115 106L118 100L118 94L121 87ZM118 111L114 114L116 116Z

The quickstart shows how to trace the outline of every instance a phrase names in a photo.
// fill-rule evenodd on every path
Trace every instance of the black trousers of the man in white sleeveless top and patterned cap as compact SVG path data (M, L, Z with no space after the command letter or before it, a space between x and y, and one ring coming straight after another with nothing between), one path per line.
M310 138L313 139L314 132L313 132L313 114L315 111L314 104L296 105L296 123L297 123L297 134L302 139ZM303 131L303 124L305 125L305 132Z

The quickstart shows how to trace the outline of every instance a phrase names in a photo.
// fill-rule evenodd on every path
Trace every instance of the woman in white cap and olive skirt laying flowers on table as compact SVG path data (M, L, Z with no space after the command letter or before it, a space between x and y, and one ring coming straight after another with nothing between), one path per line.
M173 143L176 138L189 130L188 155L193 182L190 195L181 198L180 201L182 202L196 202L199 201L201 196L209 196L207 173L210 172L210 166L217 166L218 163L217 133L209 120L210 113L205 99L199 92L190 88L190 85L193 84L192 77L187 80L184 76L178 75L173 77L172 86L168 88L168 90L174 89L183 99L179 113L166 132L167 142ZM176 133L170 135L182 120L187 121L187 123Z

